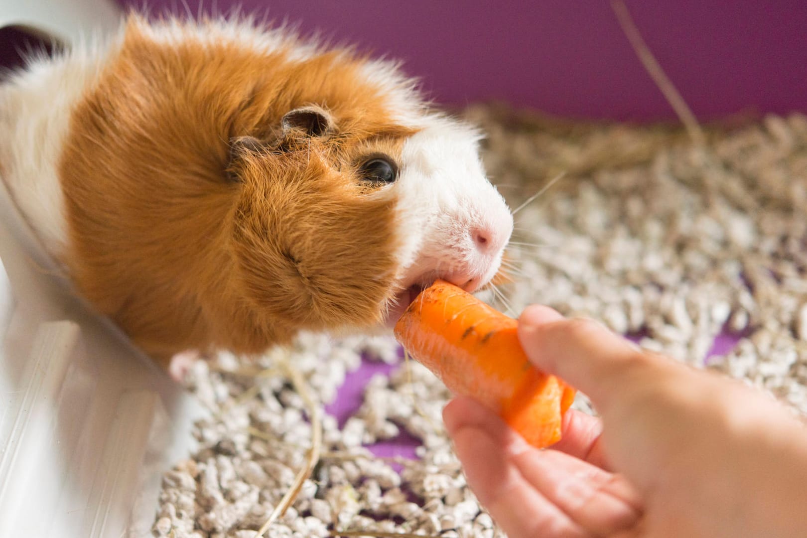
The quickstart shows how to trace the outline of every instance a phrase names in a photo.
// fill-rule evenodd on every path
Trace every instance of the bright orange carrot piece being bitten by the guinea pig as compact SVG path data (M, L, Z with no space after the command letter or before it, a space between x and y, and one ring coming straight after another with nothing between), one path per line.
M395 338L454 394L475 398L529 444L560 440L575 390L529 363L516 319L438 280L403 313Z

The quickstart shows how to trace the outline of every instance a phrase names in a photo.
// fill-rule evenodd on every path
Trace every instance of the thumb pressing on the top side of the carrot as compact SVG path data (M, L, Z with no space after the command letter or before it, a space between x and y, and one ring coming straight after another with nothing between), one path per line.
M593 319L564 319L548 307L527 307L518 336L529 360L591 398L600 412L642 380L658 377L662 361Z

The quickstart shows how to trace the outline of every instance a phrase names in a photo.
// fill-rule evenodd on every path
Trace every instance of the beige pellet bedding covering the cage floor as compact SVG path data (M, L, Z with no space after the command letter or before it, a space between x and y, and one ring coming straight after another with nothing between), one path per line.
M563 122L506 106L462 114L487 132L484 160L512 207L565 173L517 212L514 282L500 286L504 300L487 295L496 307L541 302L600 319L807 414L805 116L707 127L696 147L669 126ZM708 357L721 332L737 344ZM199 450L165 474L153 534L256 536L312 443L306 404L278 364L294 365L324 404L362 354L399 361L391 338L304 334L262 358L257 376L228 354L195 365L186 385L211 415L194 430ZM504 536L441 427L448 398L414 363L374 377L344 427L323 416L320 461L266 536ZM591 411L582 396L575 407ZM422 440L420 460L362 446L402 430Z

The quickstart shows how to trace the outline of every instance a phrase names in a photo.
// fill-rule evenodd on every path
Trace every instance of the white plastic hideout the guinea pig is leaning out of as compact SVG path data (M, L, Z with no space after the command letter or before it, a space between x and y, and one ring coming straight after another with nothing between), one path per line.
M107 0L0 2L0 27L67 44L118 15ZM203 411L58 272L0 181L0 537L150 536L161 473Z

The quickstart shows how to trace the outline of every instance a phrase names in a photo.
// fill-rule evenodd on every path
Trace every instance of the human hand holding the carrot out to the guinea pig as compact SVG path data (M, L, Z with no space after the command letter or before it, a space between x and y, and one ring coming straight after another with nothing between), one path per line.
M444 419L469 485L510 538L807 536L807 431L766 395L546 307L530 360L591 398L562 440L527 445L470 398Z

